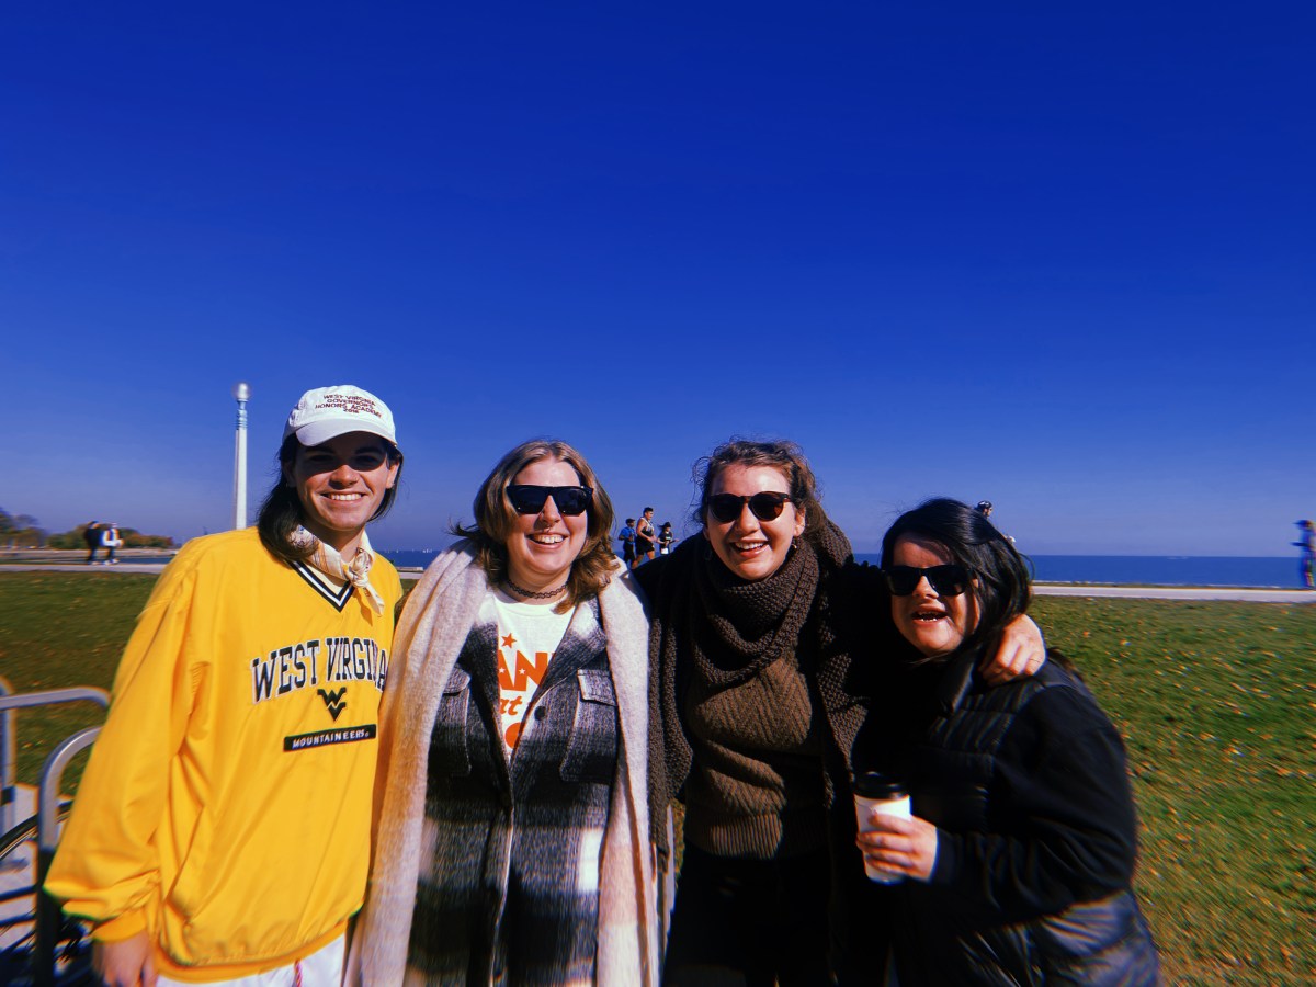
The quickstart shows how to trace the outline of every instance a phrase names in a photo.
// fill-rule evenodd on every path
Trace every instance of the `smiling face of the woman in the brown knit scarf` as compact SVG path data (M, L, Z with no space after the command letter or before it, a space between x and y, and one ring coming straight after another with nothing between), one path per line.
M775 466L741 466L733 463L713 478L709 496L733 494L738 497L763 492L790 494L786 474ZM791 550L791 541L804 533L804 515L787 501L771 521L761 521L742 504L733 521L719 521L704 508L704 537L708 538L732 572L750 582L772 575Z

